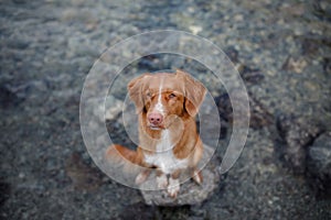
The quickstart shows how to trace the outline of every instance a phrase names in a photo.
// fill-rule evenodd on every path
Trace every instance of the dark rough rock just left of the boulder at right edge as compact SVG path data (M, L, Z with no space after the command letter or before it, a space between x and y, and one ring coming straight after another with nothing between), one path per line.
M276 122L281 142L279 156L293 170L303 174L306 170L307 148L323 131L322 127L301 118L280 116Z

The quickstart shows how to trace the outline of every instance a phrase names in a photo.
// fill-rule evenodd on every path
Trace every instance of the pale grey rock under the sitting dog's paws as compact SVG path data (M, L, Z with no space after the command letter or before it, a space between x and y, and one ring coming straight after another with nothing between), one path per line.
M211 156L213 148L205 145L204 156ZM207 199L218 187L222 182L220 175L221 160L213 156L207 165L202 169L203 183L201 186L195 184L192 179L181 185L180 193L175 199L168 196L166 190L141 190L142 197L147 205L175 207L185 205L197 205ZM156 176L151 175L145 186L156 185Z

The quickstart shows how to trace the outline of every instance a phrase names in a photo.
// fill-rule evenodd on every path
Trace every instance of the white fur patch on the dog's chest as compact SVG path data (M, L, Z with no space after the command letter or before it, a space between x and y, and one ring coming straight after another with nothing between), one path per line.
M157 152L152 155L145 155L145 162L160 168L164 174L171 174L175 169L186 168L188 160L178 160L172 152L170 131L162 131L161 140L157 145Z

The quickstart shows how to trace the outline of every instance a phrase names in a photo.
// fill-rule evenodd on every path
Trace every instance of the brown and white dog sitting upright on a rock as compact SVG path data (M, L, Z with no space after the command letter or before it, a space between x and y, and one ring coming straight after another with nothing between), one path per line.
M202 183L197 163L202 158L203 143L197 134L195 116L205 96L204 86L189 74L143 74L128 84L130 99L136 105L139 122L139 146L131 151L113 145L126 160L148 167L136 177L142 184L157 170L159 188L167 188L171 197L180 190L179 177L190 169L192 178Z

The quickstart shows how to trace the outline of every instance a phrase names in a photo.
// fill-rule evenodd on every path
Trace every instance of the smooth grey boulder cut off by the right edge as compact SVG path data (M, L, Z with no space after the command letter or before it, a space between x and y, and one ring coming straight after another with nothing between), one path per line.
M307 177L319 196L331 197L331 132L321 134L309 147Z

